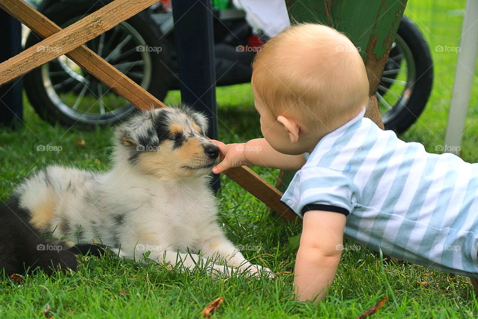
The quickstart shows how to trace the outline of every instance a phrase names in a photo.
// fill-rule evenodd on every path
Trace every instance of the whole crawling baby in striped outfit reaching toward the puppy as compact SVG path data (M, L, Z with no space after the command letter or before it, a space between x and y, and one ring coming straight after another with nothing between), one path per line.
M363 118L367 75L345 35L315 24L280 33L257 54L252 91L264 138L214 141L224 159L213 171L299 170L282 197L303 218L299 300L325 296L344 235L402 260L477 277L478 165L429 154Z

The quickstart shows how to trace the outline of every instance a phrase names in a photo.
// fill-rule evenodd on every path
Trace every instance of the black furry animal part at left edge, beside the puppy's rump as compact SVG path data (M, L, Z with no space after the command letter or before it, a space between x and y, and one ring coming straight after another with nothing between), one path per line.
M37 267L49 275L58 268L75 271L76 255L65 243L42 238L28 212L12 198L0 207L0 272L25 274Z

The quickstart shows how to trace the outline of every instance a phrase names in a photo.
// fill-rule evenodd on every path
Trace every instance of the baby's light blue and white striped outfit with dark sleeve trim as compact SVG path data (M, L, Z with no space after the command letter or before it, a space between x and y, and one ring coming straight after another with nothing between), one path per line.
M476 276L478 164L427 153L363 114L305 155L282 201L301 217L318 208L346 214L345 237L371 249Z

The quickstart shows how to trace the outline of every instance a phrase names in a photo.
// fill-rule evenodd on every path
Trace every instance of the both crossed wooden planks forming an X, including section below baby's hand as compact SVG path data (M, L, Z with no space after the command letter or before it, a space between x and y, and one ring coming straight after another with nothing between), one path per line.
M45 39L0 64L0 85L66 54L137 108L165 107L164 103L84 45L155 2L157 0L115 0L61 29L23 0L1 0L0 8ZM282 218L288 221L296 219L296 215L279 201L282 193L250 168L235 167L225 173Z

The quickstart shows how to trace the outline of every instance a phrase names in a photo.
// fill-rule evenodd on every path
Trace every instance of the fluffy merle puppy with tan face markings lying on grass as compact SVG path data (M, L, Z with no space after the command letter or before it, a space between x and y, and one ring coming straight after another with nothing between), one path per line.
M213 275L230 275L233 266L272 277L248 262L216 222L207 175L219 149L206 138L207 127L202 114L184 106L138 113L116 130L109 172L50 166L14 196L35 228L72 244L96 241L119 256L189 269L199 263ZM199 251L227 266L206 262Z

